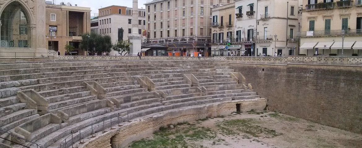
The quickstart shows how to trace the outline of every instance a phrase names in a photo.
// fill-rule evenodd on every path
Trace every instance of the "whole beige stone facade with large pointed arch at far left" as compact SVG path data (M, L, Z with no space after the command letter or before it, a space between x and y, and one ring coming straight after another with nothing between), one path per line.
M46 56L44 13L43 0L2 1L0 56Z

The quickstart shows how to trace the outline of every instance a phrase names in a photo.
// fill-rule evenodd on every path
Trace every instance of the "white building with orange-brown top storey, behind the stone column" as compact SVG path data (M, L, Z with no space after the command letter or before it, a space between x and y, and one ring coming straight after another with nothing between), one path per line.
M94 30L101 35L109 35L112 43L119 40L128 40L132 33L132 8L126 6L111 5L98 9L98 29ZM138 9L138 33L142 34L146 30L146 11ZM146 38L146 36L145 36ZM110 55L119 56L118 52L111 51Z

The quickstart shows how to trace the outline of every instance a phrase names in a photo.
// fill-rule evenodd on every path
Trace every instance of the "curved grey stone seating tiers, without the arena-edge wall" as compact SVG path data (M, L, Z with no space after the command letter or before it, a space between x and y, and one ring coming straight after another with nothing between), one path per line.
M195 60L0 65L0 128L16 132L14 128L26 130L24 125L40 123L45 116L59 117L62 123L49 122L27 130L31 133L29 140L55 148L72 131L125 112L128 120L191 105L259 97L246 84L235 81L231 74L234 70L227 65L223 61ZM193 75L198 86L193 86L185 74ZM139 77L147 77L150 82L146 85L152 83L154 90ZM95 84L85 83L90 81ZM46 106L34 107L17 96L18 91L31 89L45 99ZM36 100L32 95L28 97Z

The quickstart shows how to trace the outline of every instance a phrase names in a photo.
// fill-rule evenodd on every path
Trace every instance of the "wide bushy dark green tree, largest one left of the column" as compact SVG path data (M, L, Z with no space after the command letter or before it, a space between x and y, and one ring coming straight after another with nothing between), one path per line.
M112 48L111 37L109 35L99 35L93 32L82 35L80 48L88 52L110 52Z

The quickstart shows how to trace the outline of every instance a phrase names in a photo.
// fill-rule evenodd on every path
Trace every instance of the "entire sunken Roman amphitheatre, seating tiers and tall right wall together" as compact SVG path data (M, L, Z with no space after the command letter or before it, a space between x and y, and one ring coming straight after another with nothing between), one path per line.
M162 126L249 110L362 133L359 58L137 58L1 64L0 147L128 147Z

